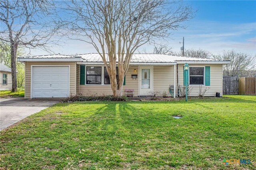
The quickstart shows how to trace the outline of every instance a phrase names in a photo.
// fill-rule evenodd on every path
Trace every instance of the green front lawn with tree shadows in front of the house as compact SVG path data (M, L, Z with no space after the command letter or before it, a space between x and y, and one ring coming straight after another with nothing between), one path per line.
M256 169L256 96L56 104L0 139L4 169Z

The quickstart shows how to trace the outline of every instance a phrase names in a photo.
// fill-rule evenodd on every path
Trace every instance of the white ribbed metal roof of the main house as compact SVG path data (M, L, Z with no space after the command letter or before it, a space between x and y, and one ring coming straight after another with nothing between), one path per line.
M28 57L18 57L18 61L78 61L83 63L103 63L100 54L87 53L79 55L38 55ZM108 62L108 54L106 54ZM199 57L186 57L167 54L133 54L130 61L131 64L180 64L180 63L196 63L196 64L229 64L230 61L222 59L206 59Z

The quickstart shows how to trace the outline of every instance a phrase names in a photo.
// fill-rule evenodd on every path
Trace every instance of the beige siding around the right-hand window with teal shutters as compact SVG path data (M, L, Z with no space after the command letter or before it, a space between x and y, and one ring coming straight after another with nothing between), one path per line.
M178 84L181 86L183 86L183 66L184 64L178 65ZM189 64L189 66L210 66L210 86L202 86L202 90L209 88L205 96L215 96L216 92L220 92L220 96L222 96L222 64ZM190 96L198 96L199 87L198 85L190 85L192 88Z

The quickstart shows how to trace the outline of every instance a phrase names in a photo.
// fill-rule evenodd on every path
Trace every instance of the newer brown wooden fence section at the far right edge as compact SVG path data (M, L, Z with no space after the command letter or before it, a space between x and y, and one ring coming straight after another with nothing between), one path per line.
M256 77L240 77L238 94L256 95Z

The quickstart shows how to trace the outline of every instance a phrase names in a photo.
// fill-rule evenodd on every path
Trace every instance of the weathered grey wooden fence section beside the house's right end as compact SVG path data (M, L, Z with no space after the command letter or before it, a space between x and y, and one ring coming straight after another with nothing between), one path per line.
M223 94L238 94L238 77L223 77Z

